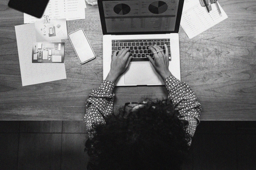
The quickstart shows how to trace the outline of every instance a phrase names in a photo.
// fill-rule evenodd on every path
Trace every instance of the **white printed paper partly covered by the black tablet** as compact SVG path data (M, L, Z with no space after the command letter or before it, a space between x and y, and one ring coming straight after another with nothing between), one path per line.
M24 23L44 21L44 15L49 16L51 20L61 18L66 18L67 20L85 19L85 8L85 0L50 0L42 18L36 18L24 13Z

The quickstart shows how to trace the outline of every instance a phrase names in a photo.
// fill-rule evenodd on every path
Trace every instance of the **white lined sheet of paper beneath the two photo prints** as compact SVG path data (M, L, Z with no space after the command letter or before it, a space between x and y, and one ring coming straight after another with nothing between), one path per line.
M35 24L15 26L22 86L66 79L64 63L32 63L32 45L36 42ZM60 41L60 40L59 40Z

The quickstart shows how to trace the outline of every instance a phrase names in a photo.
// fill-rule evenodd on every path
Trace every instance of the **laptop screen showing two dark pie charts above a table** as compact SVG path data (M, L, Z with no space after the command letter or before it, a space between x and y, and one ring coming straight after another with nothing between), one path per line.
M103 0L102 6L106 33L174 32L179 0Z

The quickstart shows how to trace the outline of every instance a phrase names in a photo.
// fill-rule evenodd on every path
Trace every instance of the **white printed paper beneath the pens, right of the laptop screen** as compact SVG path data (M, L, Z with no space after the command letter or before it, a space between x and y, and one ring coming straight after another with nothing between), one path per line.
M218 3L218 1L217 1ZM200 5L199 0L185 0L183 6L183 12L181 16L181 26L188 38L193 38L198 34L206 31L217 23L223 21L228 16L222 9L220 4L220 16L218 8L215 3L211 4L212 10L207 12L205 7Z

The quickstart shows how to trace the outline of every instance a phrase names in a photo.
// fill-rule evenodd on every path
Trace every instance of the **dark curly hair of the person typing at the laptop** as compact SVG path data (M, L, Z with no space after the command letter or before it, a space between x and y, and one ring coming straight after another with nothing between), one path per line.
M109 115L93 125L86 142L92 169L180 169L189 149L188 122L178 118L166 100L146 100L144 107L127 114Z

